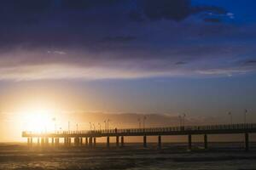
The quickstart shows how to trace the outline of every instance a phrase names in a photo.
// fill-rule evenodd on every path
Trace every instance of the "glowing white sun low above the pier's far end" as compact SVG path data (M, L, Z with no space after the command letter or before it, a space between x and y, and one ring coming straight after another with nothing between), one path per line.
M55 118L52 111L25 111L22 115L25 122L24 130L26 131L46 133L55 130Z

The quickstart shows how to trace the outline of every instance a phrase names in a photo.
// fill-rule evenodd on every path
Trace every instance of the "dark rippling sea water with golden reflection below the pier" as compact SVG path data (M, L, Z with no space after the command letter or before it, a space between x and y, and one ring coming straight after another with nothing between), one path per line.
M96 149L28 148L26 144L0 144L0 169L126 169L126 170L256 170L256 147L245 152L242 144L210 144L209 150L186 144L126 144L107 149L97 144ZM255 145L255 144L254 144Z

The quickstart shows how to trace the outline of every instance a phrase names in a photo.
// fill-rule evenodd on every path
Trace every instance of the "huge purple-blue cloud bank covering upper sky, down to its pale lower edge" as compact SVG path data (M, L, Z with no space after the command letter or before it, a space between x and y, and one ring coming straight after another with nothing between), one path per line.
M233 14L223 8L192 6L189 0L22 2L0 2L1 79L190 77L255 71L252 63L236 61L255 54L256 26L226 23L222 17Z

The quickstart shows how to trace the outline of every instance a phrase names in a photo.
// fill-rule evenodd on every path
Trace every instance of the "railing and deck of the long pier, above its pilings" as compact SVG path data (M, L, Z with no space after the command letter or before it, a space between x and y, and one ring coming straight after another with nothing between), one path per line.
M117 133L216 133L224 131L234 131L239 133L240 131L256 131L256 123L241 123L241 124L223 124L223 125L205 125L205 126L178 126L178 127L148 127L148 128L125 128L125 129L104 129L104 130L81 130L81 131L55 131L55 132L42 132L35 133L25 131L22 133L23 137L26 136L44 136L44 135L96 135L96 136L108 136L109 134Z

